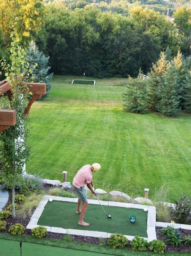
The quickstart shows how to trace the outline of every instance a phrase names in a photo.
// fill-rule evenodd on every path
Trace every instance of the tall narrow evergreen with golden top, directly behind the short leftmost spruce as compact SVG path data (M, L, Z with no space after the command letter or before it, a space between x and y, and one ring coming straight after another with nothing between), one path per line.
M161 99L161 95L158 92L160 84L164 83L164 74L167 69L168 61L164 52L161 52L160 58L156 64L153 64L151 72L149 73L149 99L151 108L157 111L156 105Z

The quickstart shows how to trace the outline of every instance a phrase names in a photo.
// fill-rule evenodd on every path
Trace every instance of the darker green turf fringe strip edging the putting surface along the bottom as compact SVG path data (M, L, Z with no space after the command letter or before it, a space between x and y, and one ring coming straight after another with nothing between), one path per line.
M9 242L11 242L11 240L14 241L18 241L18 244L20 241L22 242L27 242L27 243L34 243L34 244L44 244L44 245L50 245L50 246L55 246L55 247L61 247L61 248L68 248L68 249L73 249L73 250L83 250L85 252L88 252L88 255L92 255L92 252L96 252L96 253L102 253L102 254L107 254L107 255L119 255L119 256L139 256L140 252L135 252L132 249L113 249L109 246L103 246L103 245L95 245L95 244L87 244L87 243L79 243L79 242L67 242L64 240L60 240L60 239L51 239L51 238L41 238L38 239L36 237L33 236L29 236L29 235L11 235L11 234L7 234L7 233L1 233L0 232L0 239L7 239L9 240ZM3 243L3 241L2 241ZM18 246L18 245L17 245ZM33 245L32 245L33 246ZM1 247L0 247L1 248ZM52 249L54 250L54 249ZM15 252L15 251L13 251ZM73 255L76 255L76 252L78 251L74 251ZM173 255L173 256L179 256L179 255L190 255L190 252L165 252L165 255ZM2 255L2 254L0 254ZM17 255L17 254L11 254L8 255L6 254L6 256L12 256L12 255ZM20 254L18 254L20 255ZM24 254L22 254L24 255ZM25 254L28 255L28 254ZM35 255L40 255L40 256L44 256L47 254L35 254ZM55 254L48 254L48 255L55 255ZM67 255L67 254L64 254ZM155 254L151 251L143 251L141 252L141 255L143 256L149 256L149 255L161 255L161 254ZM4 255L2 255L4 256Z

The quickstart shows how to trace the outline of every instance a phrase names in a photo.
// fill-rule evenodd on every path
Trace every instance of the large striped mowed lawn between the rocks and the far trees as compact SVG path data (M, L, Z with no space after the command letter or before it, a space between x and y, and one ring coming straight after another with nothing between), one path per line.
M94 180L112 184L108 190L143 196L147 187L151 196L156 185L165 184L171 197L191 194L191 114L166 118L152 111L126 113L122 109L125 87L120 84L127 79L71 85L73 79L82 78L54 76L48 99L31 107L28 172L62 181L62 171L74 176L83 165L98 162L101 169ZM108 185L100 183L95 182L95 187L107 190Z

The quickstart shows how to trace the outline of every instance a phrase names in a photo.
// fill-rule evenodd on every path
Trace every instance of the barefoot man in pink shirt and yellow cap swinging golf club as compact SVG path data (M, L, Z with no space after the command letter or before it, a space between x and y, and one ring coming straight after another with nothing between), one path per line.
M89 226L89 223L83 221L84 215L87 210L88 201L87 196L84 190L84 186L87 184L87 187L91 190L92 194L95 194L94 184L92 181L92 172L96 172L101 168L100 164L87 164L84 165L73 178L73 188L78 195L78 207L76 213L80 213L80 219L78 221L79 225ZM83 205L82 205L83 204ZM82 205L82 209L81 208Z

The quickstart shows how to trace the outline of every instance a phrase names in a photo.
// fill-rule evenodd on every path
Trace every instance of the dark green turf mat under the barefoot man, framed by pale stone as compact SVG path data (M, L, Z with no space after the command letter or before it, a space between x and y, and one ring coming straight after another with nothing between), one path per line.
M48 202L38 220L38 225L60 227L64 229L92 230L107 233L120 232L123 235L139 235L147 237L147 212L134 208L103 206L108 219L100 205L89 204L84 221L89 226L78 225L79 214L76 214L77 203L52 201ZM135 223L131 223L129 215L137 216Z

